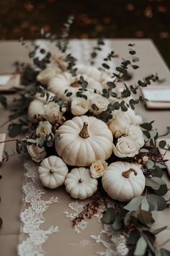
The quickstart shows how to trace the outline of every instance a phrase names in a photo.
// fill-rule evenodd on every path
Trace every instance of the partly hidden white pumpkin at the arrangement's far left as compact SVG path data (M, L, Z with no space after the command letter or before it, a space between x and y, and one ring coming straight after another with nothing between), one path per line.
M43 97L41 97L40 93L35 94L35 99L30 103L30 106L28 107L28 119L32 121L32 123L43 120L42 115L45 114L45 104L51 101L53 96L55 96L55 94L50 92L46 92Z

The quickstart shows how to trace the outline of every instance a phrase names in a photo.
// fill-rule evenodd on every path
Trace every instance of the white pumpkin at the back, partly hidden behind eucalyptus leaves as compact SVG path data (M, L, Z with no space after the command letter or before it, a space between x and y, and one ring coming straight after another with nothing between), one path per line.
M58 98L61 98L63 101L67 101L68 97L65 93L66 90L68 90L69 93L73 93L71 95L71 98L73 98L76 95L78 89L81 88L77 82L80 80L80 75L81 74L73 77L71 73L63 72L63 74L58 74L55 77L51 77L50 81L48 82L48 90L50 90L52 93L55 93L55 95L57 95ZM94 92L96 89L98 92L102 93L103 87L101 82L86 76L86 74L82 75L84 80L88 82L87 89L89 89L89 91Z

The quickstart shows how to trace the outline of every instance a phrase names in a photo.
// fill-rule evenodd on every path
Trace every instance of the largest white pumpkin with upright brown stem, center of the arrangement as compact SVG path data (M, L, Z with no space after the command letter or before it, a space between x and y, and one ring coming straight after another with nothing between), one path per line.
M112 132L93 116L76 116L56 132L55 150L70 166L90 166L112 155Z

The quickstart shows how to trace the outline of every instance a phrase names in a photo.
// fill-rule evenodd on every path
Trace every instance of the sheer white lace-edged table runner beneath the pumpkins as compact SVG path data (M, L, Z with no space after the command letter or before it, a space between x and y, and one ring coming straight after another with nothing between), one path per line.
M40 44L41 48L45 48L49 50L50 46L48 43L44 41L37 41ZM52 46L53 47L53 46ZM73 56L76 56L79 63L90 64L90 54L92 48L94 47L94 42L89 43L89 41L81 41L77 40L71 43L70 51L73 53ZM112 50L112 41L107 40L104 51L102 51L97 61L95 61L95 65L99 67L102 63L99 63L104 56L106 56ZM55 50L50 49L50 51L55 52ZM114 70L115 64L112 62L112 70ZM91 200L73 200L64 189L61 189L58 193L58 189L53 190L45 190L42 185L40 184L40 179L37 174L37 166L35 166L32 162L27 162L24 165L25 167L25 174L24 174L24 184L23 184L23 200L22 200L22 212L20 214L20 219L23 223L21 234L19 236L19 246L18 246L18 254L19 256L34 256L34 255L44 255L45 252L42 250L42 245L48 239L50 234L60 232L67 229L67 226L60 225L61 218L65 222L64 218L68 218L70 223L69 226L72 225L72 220L75 218L82 210L84 210L84 206L91 202ZM53 196L50 197L49 194ZM59 197L58 197L59 194ZM63 200L61 200L61 197ZM45 196L45 198L43 197ZM65 199L68 198L68 200ZM68 203L69 202L69 203ZM42 224L47 222L48 220L45 219L45 212L51 207L51 204L55 204L56 208L62 210L63 216L58 219L57 214L55 219L53 220L53 226L49 226L46 229L42 229ZM111 202L108 202L108 207L113 207ZM70 208L70 209L69 209ZM84 249L85 255L91 254L94 255L95 252L99 252L99 255L126 255L128 252L128 248L125 245L125 236L120 233L113 233L112 229L108 229L108 226L102 226L101 218L102 212L106 210L104 202L101 202L100 208L97 211L97 214L94 216L97 217L98 222L98 233L97 229L90 229L86 231L84 234L85 229L87 228L88 224L93 226L94 220L83 220L77 226L74 226L69 234L67 234L70 241L68 243L64 243L63 247L66 247L66 251L62 252L62 249L55 249L55 253L61 253L61 255L67 256L71 254L73 255L80 255L81 250ZM55 213L53 212L53 215ZM49 214L48 214L48 217ZM91 223L92 222L92 223ZM55 226L57 223L57 226ZM77 236L79 235L79 236ZM81 238L80 237L81 234ZM102 238L102 234L105 234L107 237ZM56 239L58 239L58 234L56 234ZM71 237L75 236L76 241L71 242ZM109 241L109 236L111 241ZM104 239L105 238L105 239ZM112 244L114 243L115 246ZM105 248L104 248L105 247ZM68 249L70 248L70 249ZM87 251L86 251L87 250Z

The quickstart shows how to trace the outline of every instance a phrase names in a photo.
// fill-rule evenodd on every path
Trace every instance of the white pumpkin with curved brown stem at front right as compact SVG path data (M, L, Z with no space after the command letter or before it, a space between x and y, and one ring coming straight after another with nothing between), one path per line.
M142 194L146 179L139 164L117 161L108 166L102 185L110 197L126 202Z

